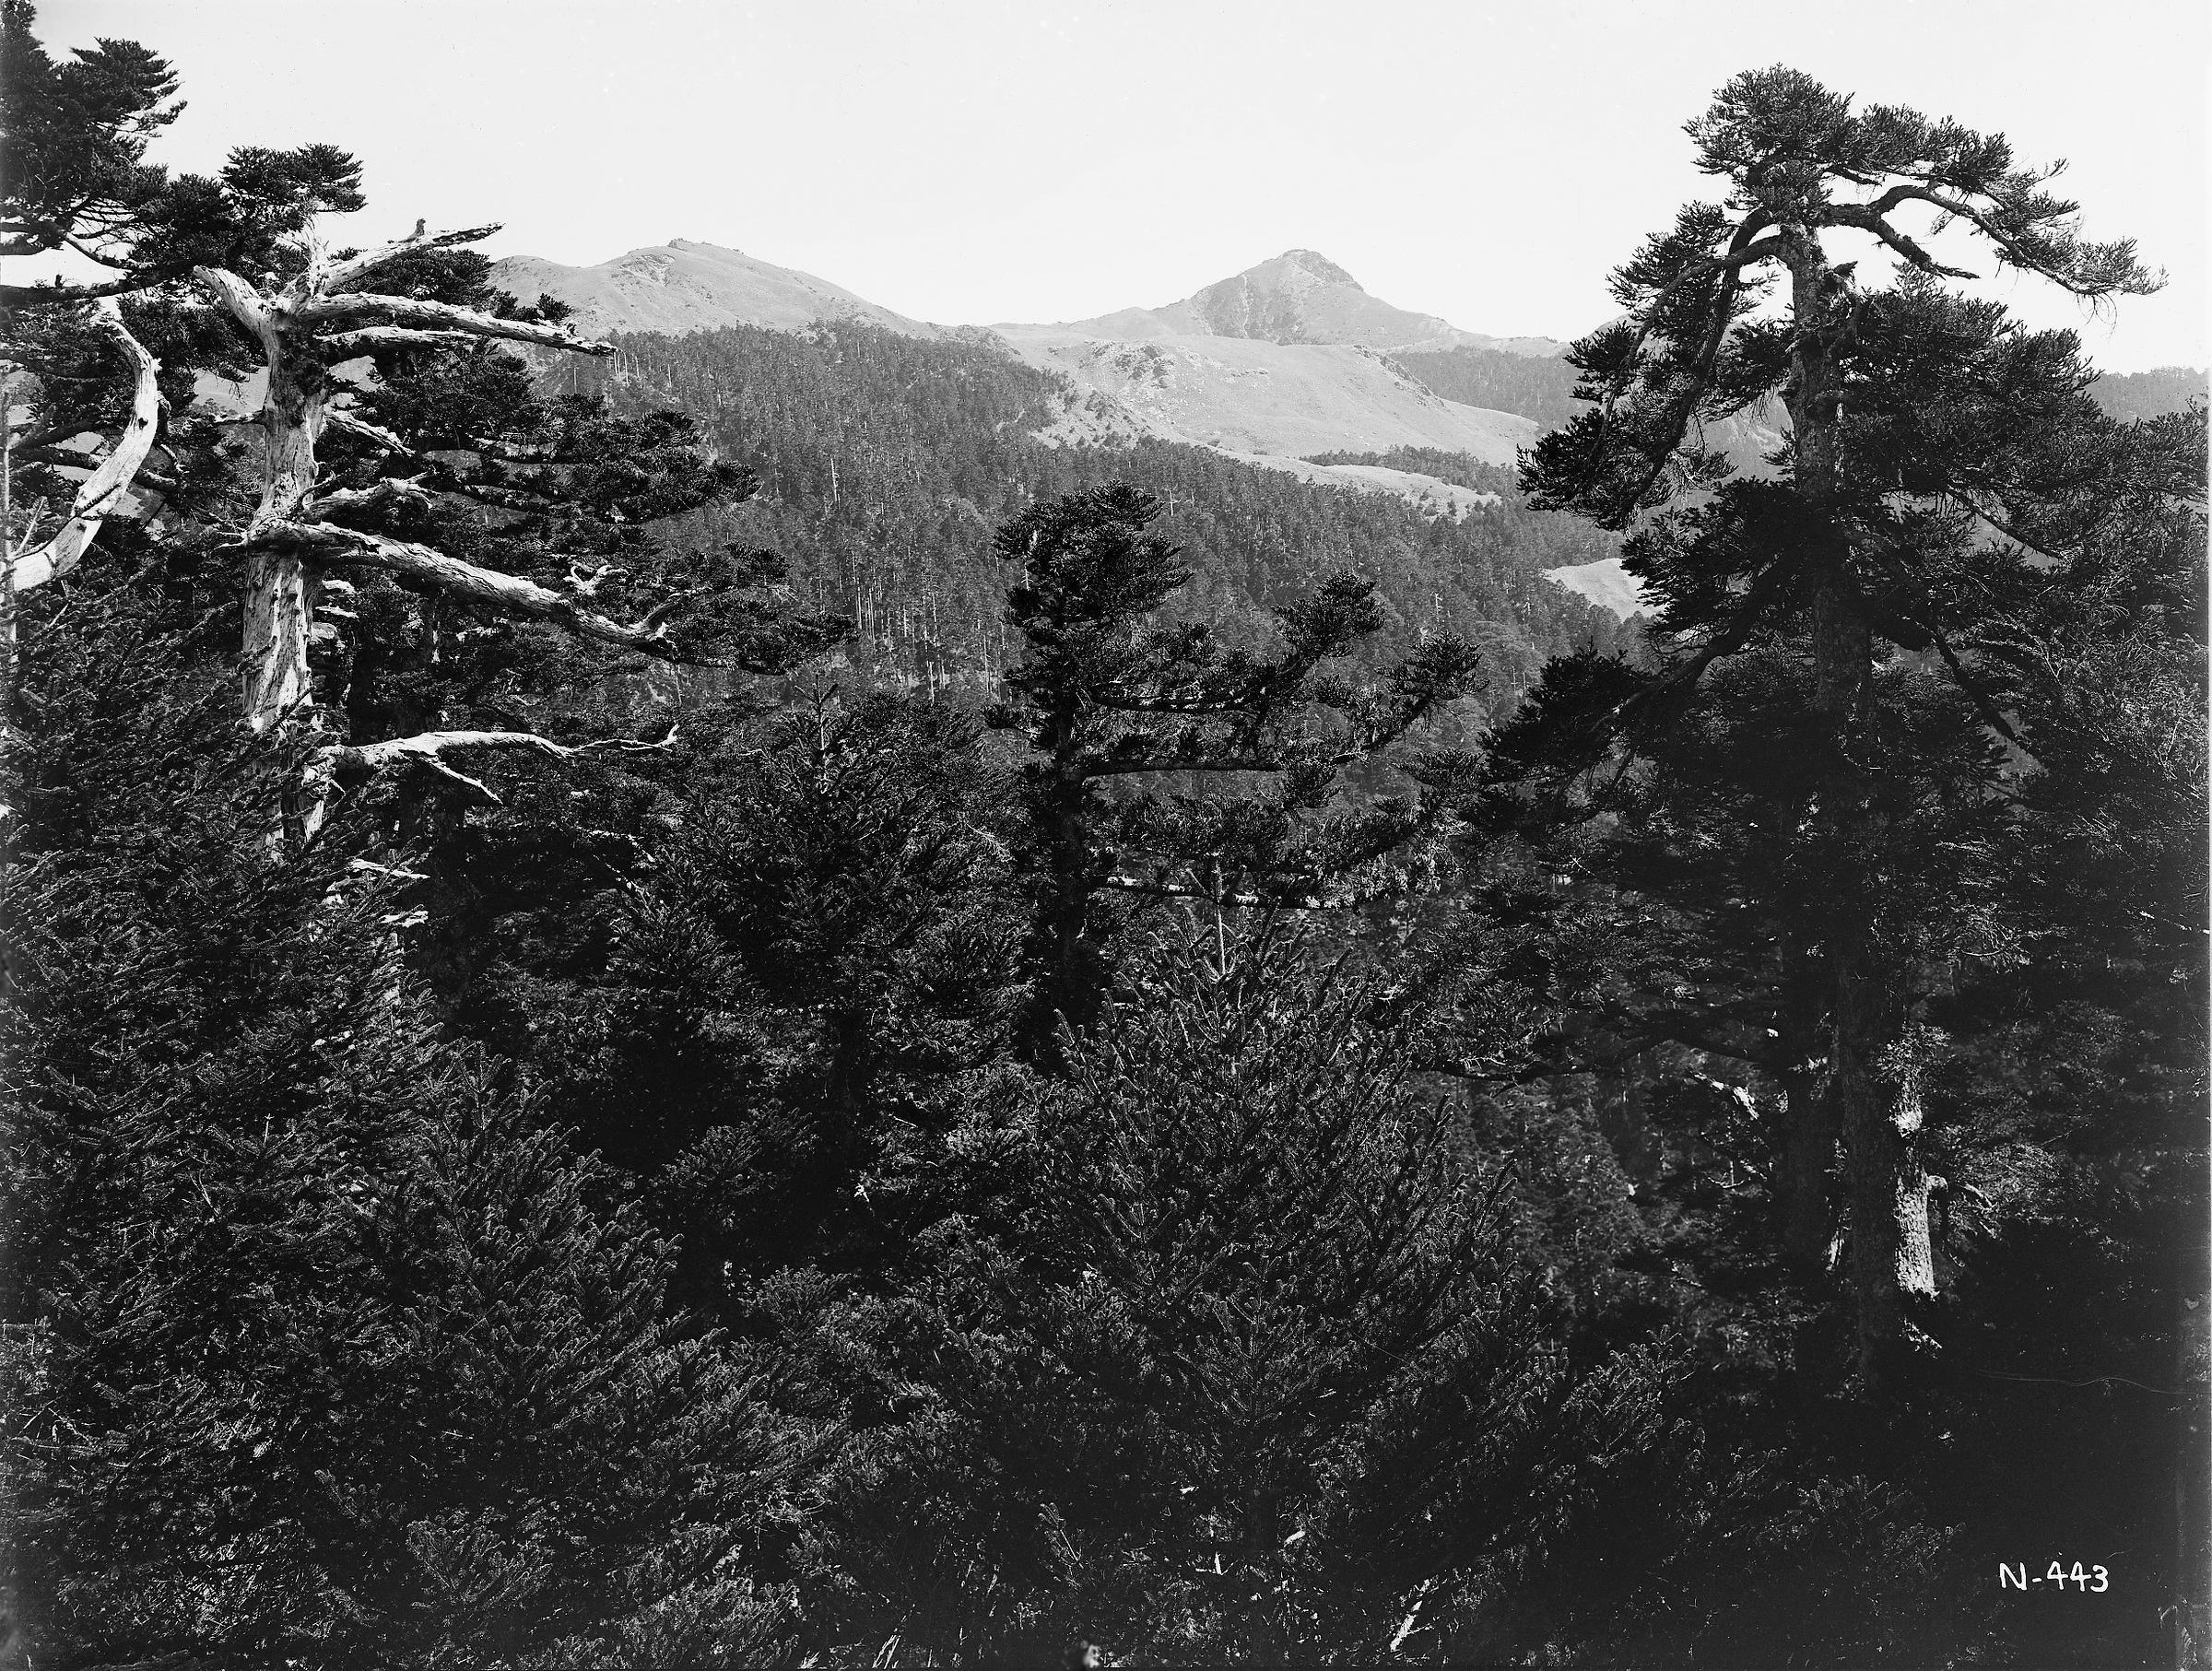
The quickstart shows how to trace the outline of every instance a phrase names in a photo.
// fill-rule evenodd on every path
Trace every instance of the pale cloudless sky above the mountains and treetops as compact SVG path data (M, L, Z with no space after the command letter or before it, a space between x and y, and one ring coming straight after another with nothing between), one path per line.
M586 266L684 237L945 325L1157 308L1310 248L1562 339L1712 195L1681 124L1781 62L2068 159L2086 232L2166 290L1975 288L2112 372L2212 363L2212 0L44 0L38 29L177 66L173 168L345 146L358 241L495 219L487 252Z

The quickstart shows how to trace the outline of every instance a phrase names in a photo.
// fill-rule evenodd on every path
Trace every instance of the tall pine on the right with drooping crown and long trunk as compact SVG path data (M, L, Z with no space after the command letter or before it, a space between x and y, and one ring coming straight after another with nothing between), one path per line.
M1951 294L1942 281L1971 274L1909 217L1960 224L2000 266L2086 299L2159 279L2132 241L2084 241L2077 206L2046 190L2057 170L2020 168L2002 135L1854 111L1798 71L1734 77L1688 133L1725 199L1686 206L1615 272L1624 316L1568 356L1588 407L1522 456L1522 482L1542 507L1635 527L1628 567L1659 604L1661 673L1586 708L1586 737L1655 746L1721 657L1803 651L1803 839L1825 885L1796 936L1816 961L1827 1056L1825 1093L1794 1100L1785 1149L1823 1162L1792 1169L1798 1191L1825 1189L1838 1135L1849 1158L1856 1355L1863 1390L1882 1397L1927 1346L1913 1312L1936 1290L1920 1146L1931 972L1887 932L1887 779L1911 724L1882 673L1940 664L1995 737L2026 746L1975 642L1991 600L2017 598L2026 575L2064 578L2106 533L2057 513L2079 507L2084 478L2141 502L2161 474L2188 474L2095 423L2064 336L2024 336ZM1856 259L1836 259L1849 235L1898 259L1893 290L1860 288ZM1761 312L1778 286L1785 305ZM1790 434L1774 478L1732 480L1703 425L1776 398ZM1668 509L1679 496L1688 507Z

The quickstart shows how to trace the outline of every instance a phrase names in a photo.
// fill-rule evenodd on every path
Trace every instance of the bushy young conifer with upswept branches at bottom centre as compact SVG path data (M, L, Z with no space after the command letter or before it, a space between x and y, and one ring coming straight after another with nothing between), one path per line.
M902 1416L834 1492L843 1605L883 1609L854 1625L1303 1662L1376 1658L1420 1598L1511 1611L1498 1574L1601 1496L1661 1377L1573 1359L1506 1162L1407 1082L1365 985L1279 923L1190 923L1124 963L1066 1082L973 1100L883 1180L936 1222L847 1308Z

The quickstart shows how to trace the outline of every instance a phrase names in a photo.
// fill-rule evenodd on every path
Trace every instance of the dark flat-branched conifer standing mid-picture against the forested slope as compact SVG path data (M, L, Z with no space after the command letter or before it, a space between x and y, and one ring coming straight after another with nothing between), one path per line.
M1037 956L1044 1000L1075 1020L1091 1016L1104 978L1099 894L1217 910L1356 899L1358 870L1427 828L1442 801L1314 814L1345 768L1473 688L1475 653L1449 635L1420 644L1380 691L1325 675L1325 662L1383 624L1374 584L1356 575L1279 611L1270 655L1157 620L1190 580L1175 547L1146 531L1157 516L1155 498L1113 482L1033 505L998 531L1000 556L1022 564L1006 611L1029 655L1006 675L991 724L1022 730L1035 750L1024 777L1044 872ZM1444 783L1460 766L1440 755L1402 770ZM1119 779L1168 775L1250 775L1272 788L1108 797Z

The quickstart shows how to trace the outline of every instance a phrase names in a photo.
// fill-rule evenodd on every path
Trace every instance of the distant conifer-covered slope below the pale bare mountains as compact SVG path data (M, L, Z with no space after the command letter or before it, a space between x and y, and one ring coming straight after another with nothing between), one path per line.
M1177 606L1232 633L1261 633L1265 615L1318 575L1352 569L1376 580L1385 602L1374 655L1462 633L1484 653L1489 713L1511 706L1546 657L1621 644L1613 615L1542 578L1613 556L1617 542L1531 511L1506 469L1447 463L1453 480L1502 496L1449 520L1203 447L1051 447L1033 436L1064 398L1046 372L989 345L858 323L805 336L745 325L619 336L615 350L608 367L560 365L555 378L606 385L639 409L681 407L726 456L759 471L752 502L695 518L684 538L781 551L810 606L854 620L849 655L874 675L993 686L1013 646L991 529L1031 500L1106 480L1130 480L1168 507L1161 531L1197 573Z

